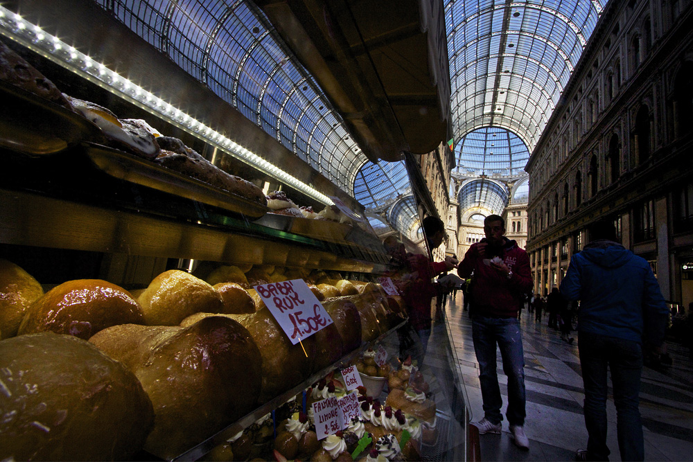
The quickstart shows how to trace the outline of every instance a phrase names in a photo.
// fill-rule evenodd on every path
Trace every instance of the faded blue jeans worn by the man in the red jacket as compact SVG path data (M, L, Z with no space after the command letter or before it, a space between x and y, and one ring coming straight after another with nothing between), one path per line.
M500 408L503 400L498 385L496 344L503 359L503 371L508 377L508 409L505 416L510 425L525 424L525 353L517 318L487 318L474 315L472 319L474 353L479 362L479 382L484 400L484 417L493 424L503 420Z

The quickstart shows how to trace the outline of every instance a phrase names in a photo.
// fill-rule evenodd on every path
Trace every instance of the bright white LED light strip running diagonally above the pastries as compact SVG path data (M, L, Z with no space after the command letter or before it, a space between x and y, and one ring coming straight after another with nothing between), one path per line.
M104 64L94 61L73 46L62 42L58 37L46 33L39 26L31 24L20 15L2 6L0 6L0 33L60 64L65 69L73 71L99 87L107 89L116 96L130 101L130 103L142 109L155 111L169 123L190 134L202 137L210 145L223 152L227 152L229 155L236 157L236 159L249 163L258 170L270 175L270 177L296 188L301 193L322 202L322 204L333 205L332 199L315 190L315 188L311 188L303 181L292 177L292 175L265 161L265 159L262 159L254 152L243 148L238 143L211 129L211 127L207 127L207 125L188 116L188 114L166 103L166 101L139 87L139 85L130 82L122 75L108 69Z

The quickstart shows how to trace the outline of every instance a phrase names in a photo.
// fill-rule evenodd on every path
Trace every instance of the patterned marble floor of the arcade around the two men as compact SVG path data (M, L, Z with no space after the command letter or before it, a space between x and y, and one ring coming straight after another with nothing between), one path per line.
M471 321L462 310L462 294L448 300L446 318L455 350L459 377L464 384L472 420L484 416L479 387L478 364L472 344ZM577 332L572 345L561 340L559 332L534 321L526 310L520 317L525 350L525 387L529 452L518 450L511 441L507 420L500 435L480 436L483 461L572 461L574 451L584 448L587 431L582 403L584 389L578 357ZM693 366L687 348L667 344L674 364L663 371L645 367L642 371L640 413L646 461L693 460ZM505 416L507 377L498 353L498 378ZM609 382L611 389L611 382ZM616 410L613 397L607 403L608 447L610 459L620 460L616 440Z

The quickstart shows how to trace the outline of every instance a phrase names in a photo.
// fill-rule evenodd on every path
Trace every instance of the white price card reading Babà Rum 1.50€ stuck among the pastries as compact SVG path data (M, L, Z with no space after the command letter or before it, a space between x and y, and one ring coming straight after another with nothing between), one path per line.
M294 345L333 322L303 279L256 285L254 289Z

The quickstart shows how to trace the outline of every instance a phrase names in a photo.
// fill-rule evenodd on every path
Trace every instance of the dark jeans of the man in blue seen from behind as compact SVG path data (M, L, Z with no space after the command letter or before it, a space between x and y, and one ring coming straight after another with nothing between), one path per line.
M580 332L580 365L585 387L585 425L590 459L608 461L606 367L611 370L618 449L624 461L642 461L644 443L638 409L642 346L635 341Z

